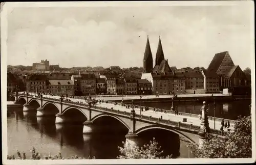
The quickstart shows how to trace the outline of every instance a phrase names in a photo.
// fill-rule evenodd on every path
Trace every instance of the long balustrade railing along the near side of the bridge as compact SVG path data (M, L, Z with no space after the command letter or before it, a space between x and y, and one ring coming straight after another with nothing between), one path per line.
M19 94L19 95L21 95L21 94ZM40 97L38 96L37 98L40 98ZM43 97L43 98L48 99L48 100L60 101L60 99L55 99L55 98L47 98L47 97ZM63 100L63 102L73 104L73 105L79 105L79 106L86 106L86 107L89 106L86 103L70 102L70 101L66 101L66 100ZM111 112L111 113L120 114L120 115L124 115L124 116L131 116L130 112L119 111L119 110L116 110L116 109L113 109L113 108L104 108L104 107L101 107L99 105L92 106L92 107L94 107L96 109L99 109L100 111ZM152 116L145 116L145 115L140 115L140 114L135 114L135 117L140 118L140 119L144 119L144 120L147 120L147 121L154 121L154 122L163 123L163 124L167 124L167 125L178 126L180 128L186 128L186 129L189 129L189 130L200 130L200 126L193 125L193 124L175 122L175 121L170 121L170 120L166 120L166 119L155 118L155 117L152 117ZM210 133L219 134L219 135L226 135L227 134L227 132L217 130L217 129L210 129Z

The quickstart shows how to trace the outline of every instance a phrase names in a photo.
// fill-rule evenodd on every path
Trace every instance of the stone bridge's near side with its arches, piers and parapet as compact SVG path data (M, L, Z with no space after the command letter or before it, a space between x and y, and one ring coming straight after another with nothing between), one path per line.
M32 96L30 94L11 94L11 97L15 98L15 102L23 100L26 102L24 104L23 111L28 111L30 103L36 101L39 104L37 110L37 116L49 115L45 107L48 104L56 106L58 113L56 114L56 124L62 124L67 122L66 112L72 111L72 109L77 109L80 111L86 118L87 121L83 123L83 133L92 133L93 131L93 122L100 117L109 116L120 121L129 132L126 134L126 143L131 145L136 145L138 143L138 134L150 130L150 129L164 129L178 134L182 139L194 144L199 144L204 139L204 136L199 133L204 131L204 126L202 125L193 125L186 124L182 122L170 121L161 118L154 118L152 116L145 116L136 114L135 111L127 112L120 111L119 109L106 108L99 105L89 105L88 103L77 103L71 101L64 101L56 98L42 97L42 96ZM24 101L25 100L25 101ZM48 110L49 111L49 110ZM72 112L70 112L72 113ZM209 129L209 133L216 135L224 135L225 131L220 131L216 129Z

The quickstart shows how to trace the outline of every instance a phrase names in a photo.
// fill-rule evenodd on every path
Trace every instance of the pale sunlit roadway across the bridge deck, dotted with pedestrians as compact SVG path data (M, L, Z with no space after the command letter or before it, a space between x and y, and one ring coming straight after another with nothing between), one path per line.
M21 92L22 93L22 92ZM31 95L34 96L34 93L29 93ZM55 98L55 99L59 99L59 96L50 96L50 95L43 95L44 97L48 97L48 98ZM69 98L71 101L74 101L74 102L81 102L82 103L86 103L86 101L84 100L81 100L79 98ZM125 111L125 112L131 112L132 108L126 108L125 106L121 106L121 105L114 105L113 103L98 103L98 105L102 106L102 107L106 107L106 108L112 108L113 109L116 109L116 110L119 110L119 111ZM202 104L203 105L203 104ZM138 108L134 108L135 109L135 112L136 114L140 114L140 107L138 106ZM187 122L186 124L193 124L193 125L197 125L197 126L200 126L200 123L201 123L201 120L198 118L198 117L190 117L190 116L183 116L183 115L175 115L175 114L170 114L170 113L161 113L161 112L153 112L152 110L148 110L148 111L143 111L141 112L141 115L145 115L145 116L152 116L152 117L155 117L155 118L160 118L162 116L163 119L165 120L170 120L170 121L175 121L175 122L183 122L183 118L186 118L187 119ZM211 129L214 129L214 120L208 120L209 121L209 127ZM218 129L220 130L221 128L221 122L220 121L216 121L215 122L215 126L216 128L215 129ZM230 130L233 130L233 122L230 122L230 127L229 129ZM227 131L227 128L224 128L225 131Z

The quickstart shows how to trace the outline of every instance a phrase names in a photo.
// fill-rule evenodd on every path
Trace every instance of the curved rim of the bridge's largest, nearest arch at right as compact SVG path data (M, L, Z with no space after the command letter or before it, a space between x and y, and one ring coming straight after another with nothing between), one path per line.
M179 134L180 136L185 137L185 139L187 139L190 143L197 144L193 139L191 139L190 137L188 137L187 135L185 135L184 133L182 133L178 130L164 128L164 127L161 127L161 126L158 126L158 125L145 126L143 128L138 129L135 133L139 134L143 131L150 130L150 129L163 129L163 130L167 130L167 131L170 131L170 132L174 132L176 134Z

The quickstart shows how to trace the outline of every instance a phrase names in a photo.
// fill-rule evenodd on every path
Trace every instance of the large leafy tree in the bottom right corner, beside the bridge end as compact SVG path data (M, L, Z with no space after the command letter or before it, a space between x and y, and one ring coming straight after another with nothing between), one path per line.
M239 116L234 123L234 131L224 137L206 134L201 147L188 144L197 158L250 158L251 151L251 116Z

